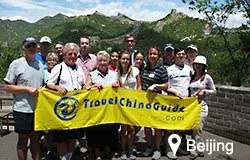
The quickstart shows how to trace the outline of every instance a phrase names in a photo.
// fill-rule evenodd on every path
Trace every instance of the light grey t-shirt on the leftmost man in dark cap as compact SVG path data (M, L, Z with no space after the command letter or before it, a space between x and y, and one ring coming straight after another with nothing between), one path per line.
M27 61L24 57L14 60L8 69L4 81L18 86L40 88L43 86L43 65L41 62ZM23 113L33 113L36 96L28 92L13 93L13 110Z

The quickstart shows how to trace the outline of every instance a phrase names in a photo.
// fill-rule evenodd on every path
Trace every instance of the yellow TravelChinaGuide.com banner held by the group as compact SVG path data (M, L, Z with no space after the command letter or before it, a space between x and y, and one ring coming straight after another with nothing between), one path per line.
M197 97L179 99L145 91L104 87L78 90L62 96L40 89L35 130L75 129L122 123L150 128L188 130L199 127Z

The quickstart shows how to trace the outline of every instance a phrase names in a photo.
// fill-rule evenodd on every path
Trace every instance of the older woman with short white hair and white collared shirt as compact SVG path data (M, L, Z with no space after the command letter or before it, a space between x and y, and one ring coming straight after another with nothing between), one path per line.
M109 61L110 55L106 51L97 53L98 67L89 73L86 82L87 89L96 87L101 90L105 86L119 87L117 72L108 69ZM111 150L117 150L118 128L117 124L104 124L87 128L88 146L94 148L96 160L102 159L101 149L104 149L104 156L108 156L108 158L111 158Z

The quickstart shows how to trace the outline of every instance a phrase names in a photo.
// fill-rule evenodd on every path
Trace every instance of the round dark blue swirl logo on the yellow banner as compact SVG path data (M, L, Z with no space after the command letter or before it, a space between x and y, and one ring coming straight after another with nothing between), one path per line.
M73 97L63 97L56 102L54 113L63 121L72 120L76 116L76 106L78 103L78 100Z

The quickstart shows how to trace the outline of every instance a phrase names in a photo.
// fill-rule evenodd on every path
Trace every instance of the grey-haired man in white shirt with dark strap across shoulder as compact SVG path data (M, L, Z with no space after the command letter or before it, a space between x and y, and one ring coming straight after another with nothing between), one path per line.
M76 64L79 47L75 43L64 46L64 61L56 65L49 77L47 87L66 95L68 91L80 90L85 83L83 70ZM81 130L61 130L54 132L54 141L61 160L70 160L75 149L75 139L83 134Z

